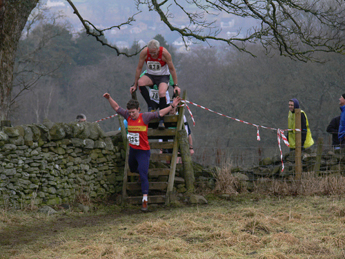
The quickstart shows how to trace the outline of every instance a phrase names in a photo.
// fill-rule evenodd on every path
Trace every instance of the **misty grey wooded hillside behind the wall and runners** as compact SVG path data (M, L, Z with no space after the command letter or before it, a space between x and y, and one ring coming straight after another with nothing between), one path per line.
M93 10L86 3L75 1L80 5L80 12L85 9L90 15L86 19L92 19L92 14L101 12L102 8L114 8L111 5L115 4L102 6L103 1L100 1L99 8ZM166 29L148 31L152 32L150 37L155 37L160 33L165 35ZM276 131L259 128L261 141L258 142L257 128L235 119L286 129L288 100L293 97L299 99L308 116L314 140L330 136L326 126L339 115L338 99L344 93L343 55L323 54L328 62L318 64L292 61L275 52L268 57L259 45L249 46L257 57L228 46L196 45L181 53L168 39L159 37L161 42L166 41L166 48L172 53L179 85L187 90L188 100L233 118L190 105L195 119L192 132L196 149L216 146L260 150L273 146L272 152L276 154ZM107 36L106 40L110 41ZM89 122L95 122L113 115L115 112L102 95L108 92L125 106L130 99L129 88L134 81L137 61L137 56L117 57L114 50L102 46L85 32L72 33L63 25L41 23L20 42L13 93L14 97L19 96L12 105L12 124L41 123L45 118L52 122L70 122L78 113L84 113ZM30 90L25 90L28 86ZM138 97L146 111L139 92ZM190 115L186 115L192 125ZM117 118L99 122L99 125L104 131L119 128Z

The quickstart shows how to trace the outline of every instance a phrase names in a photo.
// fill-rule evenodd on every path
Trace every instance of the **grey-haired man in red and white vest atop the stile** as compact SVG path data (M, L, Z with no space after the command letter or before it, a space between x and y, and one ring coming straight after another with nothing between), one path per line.
M144 63L146 63L147 73L140 77ZM146 86L152 87L157 84L159 94L159 110L166 108L166 91L168 90L170 73L172 80L174 81L174 84L172 85L174 92L177 90L179 95L181 89L177 84L177 74L174 64L172 64L170 53L168 50L166 50L166 48L159 46L159 41L151 39L148 41L148 46L140 52L139 63L137 70L135 71L135 81L134 85L130 87L130 93L134 93L139 86L140 93L148 104L148 110L154 111L154 109L152 109L154 106L152 106L152 101ZM165 128L163 117L159 118L158 128Z

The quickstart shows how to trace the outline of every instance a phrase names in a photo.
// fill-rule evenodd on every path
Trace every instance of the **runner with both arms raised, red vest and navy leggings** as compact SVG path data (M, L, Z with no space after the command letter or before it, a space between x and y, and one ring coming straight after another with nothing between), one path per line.
M181 101L180 97L174 98L170 106L152 113L140 113L139 102L130 99L127 109L121 108L108 93L103 95L108 99L110 106L119 114L124 116L128 122L128 142L130 146L128 166L132 173L139 173L141 181L141 193L143 203L141 210L148 209L148 164L150 162L150 146L148 144L148 122L159 116L168 114Z

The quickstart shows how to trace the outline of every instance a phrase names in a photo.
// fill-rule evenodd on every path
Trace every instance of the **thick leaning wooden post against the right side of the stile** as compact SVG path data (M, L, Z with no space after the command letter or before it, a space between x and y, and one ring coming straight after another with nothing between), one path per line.
M188 134L184 128L178 131L178 134L181 160L184 166L184 180L186 181L186 189L189 193L193 193L195 177L193 171L192 156L190 155L189 151Z

